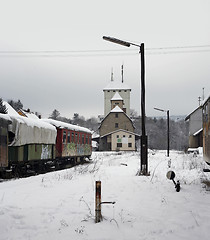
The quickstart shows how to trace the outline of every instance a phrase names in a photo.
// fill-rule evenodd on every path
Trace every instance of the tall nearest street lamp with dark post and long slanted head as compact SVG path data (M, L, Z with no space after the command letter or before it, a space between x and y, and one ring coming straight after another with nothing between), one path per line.
M123 45L125 47L136 46L139 47L139 53L141 56L141 168L140 175L148 175L148 146L147 146L147 135L145 129L145 63L144 63L144 43L137 45L135 43L122 41L113 37L103 36L103 39L113 43Z

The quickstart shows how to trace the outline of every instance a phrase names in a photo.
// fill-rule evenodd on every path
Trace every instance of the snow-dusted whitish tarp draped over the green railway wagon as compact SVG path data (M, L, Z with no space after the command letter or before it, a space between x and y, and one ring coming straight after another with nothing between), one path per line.
M9 131L15 134L10 146L55 144L57 131L51 124L22 116L10 116L10 118L12 124L9 125Z

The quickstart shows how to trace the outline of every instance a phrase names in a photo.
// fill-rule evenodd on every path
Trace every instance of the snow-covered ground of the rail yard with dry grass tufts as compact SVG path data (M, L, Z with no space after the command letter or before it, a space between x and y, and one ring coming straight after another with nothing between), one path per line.
M210 180L202 156L149 152L150 176L136 176L139 154L93 153L92 163L0 183L1 240L209 239ZM181 183L176 192L169 170ZM127 164L127 166L125 165ZM95 181L103 221L95 223Z

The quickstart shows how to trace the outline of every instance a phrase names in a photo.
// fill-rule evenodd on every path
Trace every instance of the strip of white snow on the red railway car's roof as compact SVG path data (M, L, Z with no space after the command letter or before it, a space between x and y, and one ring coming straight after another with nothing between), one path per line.
M41 120L44 122L50 123L57 128L66 128L66 129L74 130L74 131L92 133L88 128L80 127L80 126L73 125L70 123L65 123L65 122L54 120L54 119L41 119Z

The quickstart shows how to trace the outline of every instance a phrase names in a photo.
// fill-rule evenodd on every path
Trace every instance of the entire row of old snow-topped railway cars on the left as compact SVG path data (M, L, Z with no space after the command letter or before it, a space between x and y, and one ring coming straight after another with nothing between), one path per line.
M84 127L0 114L0 177L22 177L83 163L92 154L91 141L91 131Z

